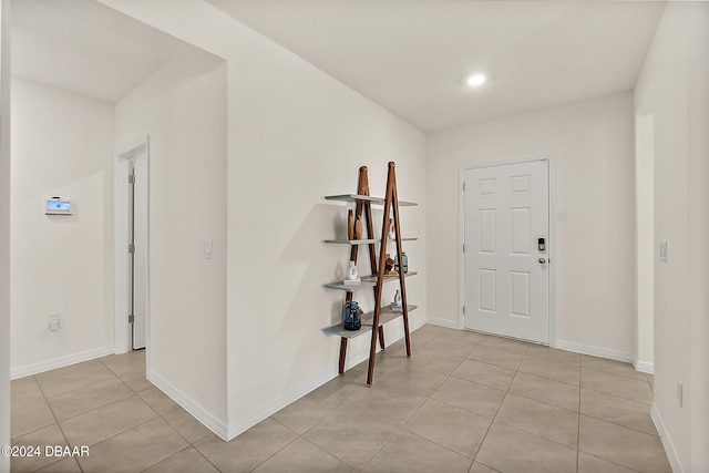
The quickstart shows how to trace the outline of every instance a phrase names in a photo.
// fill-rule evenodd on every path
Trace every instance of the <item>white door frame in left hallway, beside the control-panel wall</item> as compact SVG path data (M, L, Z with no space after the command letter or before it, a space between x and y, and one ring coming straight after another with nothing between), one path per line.
M130 243L129 235L129 162L135 160L135 174L140 176L135 186L142 188L142 195L150 199L148 194L148 157L150 157L150 140L148 135L142 136L135 142L116 148L114 153L113 167L113 224L114 224L114 265L115 265L115 353L126 353L133 350L131 343L131 323L129 322L129 302L125 295L129 294L129 258L127 248ZM136 224L136 228L144 229L145 247L145 340L146 346L150 340L150 232L148 215L150 202L145 202L145 218L141 224ZM121 296L123 295L123 296Z

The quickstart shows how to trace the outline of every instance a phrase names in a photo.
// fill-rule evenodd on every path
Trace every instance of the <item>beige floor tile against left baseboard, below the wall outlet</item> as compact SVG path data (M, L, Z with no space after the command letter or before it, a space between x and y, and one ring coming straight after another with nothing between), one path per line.
M35 378L48 399L97 383L117 381L116 377L97 360L84 361L60 370L47 371L37 374Z

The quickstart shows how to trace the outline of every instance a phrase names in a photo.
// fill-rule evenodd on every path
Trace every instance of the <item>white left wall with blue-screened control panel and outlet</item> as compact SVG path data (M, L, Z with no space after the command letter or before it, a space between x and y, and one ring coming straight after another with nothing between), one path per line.
M112 352L113 132L112 104L12 80L13 378Z

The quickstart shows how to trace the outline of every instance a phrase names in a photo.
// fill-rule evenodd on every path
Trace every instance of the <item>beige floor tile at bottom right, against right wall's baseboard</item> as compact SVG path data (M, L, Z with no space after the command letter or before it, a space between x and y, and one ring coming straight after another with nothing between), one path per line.
M586 415L580 415L578 448L633 470L671 472L658 436Z

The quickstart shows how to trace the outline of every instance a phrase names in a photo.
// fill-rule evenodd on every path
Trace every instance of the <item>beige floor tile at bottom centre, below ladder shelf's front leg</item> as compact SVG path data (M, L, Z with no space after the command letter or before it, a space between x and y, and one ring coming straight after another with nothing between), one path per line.
M304 438L350 466L361 469L395 431L397 426L357 410L330 414Z

